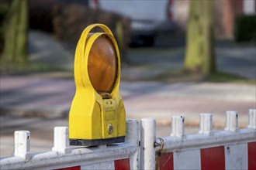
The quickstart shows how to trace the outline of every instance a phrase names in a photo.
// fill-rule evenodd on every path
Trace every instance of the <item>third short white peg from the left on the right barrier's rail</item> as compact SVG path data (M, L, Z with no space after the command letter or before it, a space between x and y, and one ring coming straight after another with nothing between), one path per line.
M238 113L237 111L227 111L225 131L238 132Z

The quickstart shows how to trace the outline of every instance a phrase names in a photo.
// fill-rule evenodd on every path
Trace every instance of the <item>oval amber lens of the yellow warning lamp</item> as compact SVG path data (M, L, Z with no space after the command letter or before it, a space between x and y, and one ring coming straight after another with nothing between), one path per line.
M107 36L99 36L88 56L88 75L98 93L110 93L117 74L116 50Z

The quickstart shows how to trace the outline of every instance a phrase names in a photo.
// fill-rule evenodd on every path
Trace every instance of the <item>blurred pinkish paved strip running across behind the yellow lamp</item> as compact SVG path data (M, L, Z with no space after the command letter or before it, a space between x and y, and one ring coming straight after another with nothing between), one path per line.
M74 97L74 80L38 76L0 78L2 113L16 116L67 117ZM247 125L248 109L255 108L255 86L231 83L122 82L120 92L128 118L154 117L169 124L171 115L185 115L187 124L198 124L200 113L213 113L223 126L225 112L237 110L240 125Z

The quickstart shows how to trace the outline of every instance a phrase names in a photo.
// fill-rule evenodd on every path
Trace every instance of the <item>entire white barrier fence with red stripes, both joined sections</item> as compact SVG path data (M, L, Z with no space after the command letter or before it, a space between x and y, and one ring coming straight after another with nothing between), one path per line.
M126 141L97 147L70 147L68 128L54 128L52 151L30 153L29 131L15 132L13 157L0 169L256 169L256 110L247 128L227 111L226 128L213 131L213 115L200 114L199 134L185 134L185 117L171 117L170 136L156 138L153 118L126 120Z

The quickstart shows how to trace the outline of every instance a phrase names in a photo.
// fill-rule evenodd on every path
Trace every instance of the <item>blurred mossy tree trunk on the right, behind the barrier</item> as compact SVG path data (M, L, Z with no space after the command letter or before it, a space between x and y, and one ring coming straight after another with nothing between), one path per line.
M206 75L216 71L214 59L213 3L200 0L190 2L185 70Z

